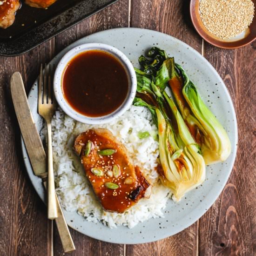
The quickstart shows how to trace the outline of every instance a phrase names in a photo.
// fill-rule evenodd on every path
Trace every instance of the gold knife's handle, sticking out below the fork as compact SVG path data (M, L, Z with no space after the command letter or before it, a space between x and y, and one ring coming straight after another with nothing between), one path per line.
M45 188L47 187L46 182L44 182L44 186L45 186ZM59 231L59 235L61 238L61 243L62 243L64 251L71 252L71 251L75 250L74 242L70 235L70 232L69 232L69 229L67 226L67 222L66 222L63 212L61 210L61 205L60 205L60 202L59 202L59 199L58 199L58 196L56 195L56 193L55 193L55 196L56 196L56 206L57 206L57 213L58 213L58 218L55 219L55 223L56 223L57 229Z

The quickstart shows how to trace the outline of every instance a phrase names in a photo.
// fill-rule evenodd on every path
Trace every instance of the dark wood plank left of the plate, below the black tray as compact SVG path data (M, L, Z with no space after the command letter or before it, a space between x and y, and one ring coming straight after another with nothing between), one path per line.
M23 163L9 82L13 72L20 71L28 91L39 64L53 57L53 42L19 57L0 57L0 251L4 255L47 255L46 207Z

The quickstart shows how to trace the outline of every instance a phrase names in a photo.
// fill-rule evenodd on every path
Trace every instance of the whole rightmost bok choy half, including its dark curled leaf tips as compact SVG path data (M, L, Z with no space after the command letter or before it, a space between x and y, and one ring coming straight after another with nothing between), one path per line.
M149 51L148 57L153 57L153 61L148 61L147 65L144 65L145 61L140 63L142 70L145 73L148 73L147 70L151 70L151 73L149 73L155 76L156 74L162 74L161 82L163 83L161 86L159 86L160 82L155 79L155 84L161 91L163 91L162 88L166 87L166 81L168 81L168 87L174 95L183 120L191 135L201 147L205 163L208 165L225 161L231 153L229 137L215 115L202 101L197 88L189 80L185 70L176 64L173 58L168 58L167 54L157 47L153 47ZM172 60L172 65L167 67L164 62L169 59ZM157 62L155 60L162 60L162 65L161 61L158 61L157 68L152 69L151 65ZM166 72L166 67L168 72Z

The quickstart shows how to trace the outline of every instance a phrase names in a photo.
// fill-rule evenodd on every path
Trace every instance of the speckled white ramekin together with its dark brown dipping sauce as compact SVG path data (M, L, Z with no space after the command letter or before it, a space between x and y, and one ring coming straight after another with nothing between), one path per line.
M75 120L107 123L132 105L136 75L131 62L115 47L83 44L59 62L54 93L63 111Z

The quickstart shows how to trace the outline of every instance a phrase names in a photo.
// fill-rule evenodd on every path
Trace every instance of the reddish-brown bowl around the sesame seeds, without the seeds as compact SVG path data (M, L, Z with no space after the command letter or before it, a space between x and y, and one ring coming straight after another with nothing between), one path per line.
M256 0L252 0L252 1L256 8ZM191 20L198 34L200 34L202 38L207 42L209 42L210 44L215 45L216 47L233 49L233 48L243 47L256 39L256 13L253 17L252 23L250 24L249 28L246 29L246 31L244 31L243 35L240 34L235 39L223 40L219 37L216 37L216 35L210 33L204 27L202 20L200 18L199 3L200 3L200 0L190 1Z

